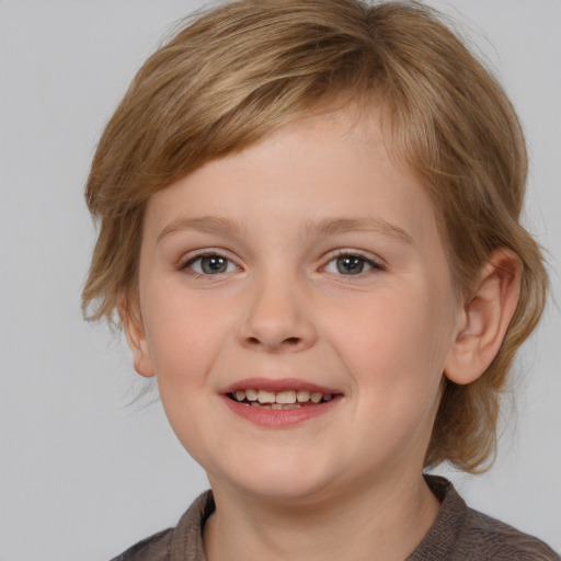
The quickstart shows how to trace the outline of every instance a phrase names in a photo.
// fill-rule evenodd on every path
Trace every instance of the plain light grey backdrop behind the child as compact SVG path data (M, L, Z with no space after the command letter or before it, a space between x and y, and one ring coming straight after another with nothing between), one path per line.
M440 471L471 506L561 550L561 1L428 3L455 18L519 112L525 222L552 280L495 466L477 478ZM127 407L142 386L128 350L79 307L96 140L144 59L201 5L0 0L0 560L110 559L175 524L207 485L158 401Z

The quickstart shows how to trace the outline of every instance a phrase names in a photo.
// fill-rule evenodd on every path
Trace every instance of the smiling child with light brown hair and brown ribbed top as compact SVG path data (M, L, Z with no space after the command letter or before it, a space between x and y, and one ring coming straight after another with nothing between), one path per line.
M83 305L211 492L117 559L559 559L423 476L492 458L543 309L525 179L504 92L417 3L241 0L161 47L93 160Z

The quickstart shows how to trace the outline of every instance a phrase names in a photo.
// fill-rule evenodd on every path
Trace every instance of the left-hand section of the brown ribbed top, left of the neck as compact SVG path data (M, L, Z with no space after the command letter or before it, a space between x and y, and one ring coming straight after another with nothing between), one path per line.
M139 541L112 561L205 561L203 527L214 510L213 494L207 491L194 501L175 528Z

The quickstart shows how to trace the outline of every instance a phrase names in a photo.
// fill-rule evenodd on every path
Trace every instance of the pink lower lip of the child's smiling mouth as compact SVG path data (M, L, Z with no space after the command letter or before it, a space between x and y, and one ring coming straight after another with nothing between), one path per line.
M253 408L244 403L238 403L228 396L221 396L230 411L252 423L267 428L286 428L299 425L311 419L324 415L341 401L341 396L335 396L331 401L317 405L304 405L298 409L267 409Z

